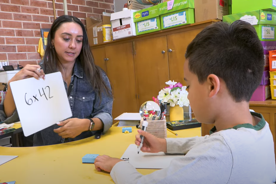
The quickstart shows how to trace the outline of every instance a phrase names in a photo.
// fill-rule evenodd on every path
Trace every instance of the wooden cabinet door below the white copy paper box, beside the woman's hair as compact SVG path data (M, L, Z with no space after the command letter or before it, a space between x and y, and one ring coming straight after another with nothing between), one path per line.
M135 74L132 42L105 47L107 75L114 95L112 116L139 112L135 98Z

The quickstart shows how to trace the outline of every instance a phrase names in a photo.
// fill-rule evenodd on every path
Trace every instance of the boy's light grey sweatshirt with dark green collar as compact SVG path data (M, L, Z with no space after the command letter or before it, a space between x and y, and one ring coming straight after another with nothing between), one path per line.
M168 168L142 175L122 161L110 175L116 184L274 183L273 137L263 116L251 114L260 119L256 126L238 125L204 137L167 138L168 153L186 154L173 159Z

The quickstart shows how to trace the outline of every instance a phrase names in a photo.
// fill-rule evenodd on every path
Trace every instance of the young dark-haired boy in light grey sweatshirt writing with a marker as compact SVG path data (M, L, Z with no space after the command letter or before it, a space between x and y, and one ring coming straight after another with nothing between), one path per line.
M186 155L149 175L109 156L98 156L96 169L111 172L117 184L274 183L269 125L261 114L249 110L264 69L263 47L254 27L244 21L212 24L189 44L185 57L190 105L199 122L215 124L211 135L160 139L139 130L145 136L141 151ZM136 135L135 144L140 142Z

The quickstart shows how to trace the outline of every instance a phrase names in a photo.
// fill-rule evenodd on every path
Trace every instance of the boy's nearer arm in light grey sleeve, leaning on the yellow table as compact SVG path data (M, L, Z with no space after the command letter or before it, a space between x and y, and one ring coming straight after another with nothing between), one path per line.
M122 161L113 167L110 175L116 184L227 183L232 159L224 138L210 136L191 148L186 156L173 159L168 168L142 175L130 163Z

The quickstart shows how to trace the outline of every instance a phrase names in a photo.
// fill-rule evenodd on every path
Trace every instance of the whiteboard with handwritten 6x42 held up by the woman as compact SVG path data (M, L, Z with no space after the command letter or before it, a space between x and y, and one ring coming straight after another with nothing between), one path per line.
M28 78L10 83L13 99L25 136L72 116L60 72L43 79Z

